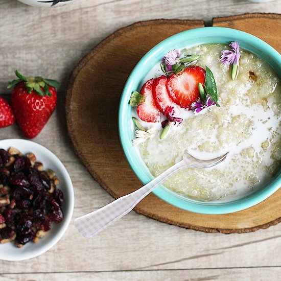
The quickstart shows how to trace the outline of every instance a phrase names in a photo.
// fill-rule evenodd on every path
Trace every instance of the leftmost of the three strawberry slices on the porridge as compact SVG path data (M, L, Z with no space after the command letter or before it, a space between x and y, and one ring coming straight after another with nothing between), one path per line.
M152 86L155 81L155 78L148 80L139 92L146 99L142 104L137 106L136 112L138 117L146 122L160 121L161 111L157 108L152 95Z

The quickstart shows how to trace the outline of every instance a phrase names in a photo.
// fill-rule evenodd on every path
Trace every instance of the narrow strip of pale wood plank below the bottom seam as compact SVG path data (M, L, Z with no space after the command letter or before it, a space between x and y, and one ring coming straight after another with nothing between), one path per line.
M237 281L237 280L259 280L268 281L278 280L281 275L280 267L273 268L237 268L237 269L206 269L206 270L148 270L148 271L112 271L112 272L77 272L77 273L33 273L33 274L0 274L2 281L60 281L60 280L83 280L83 281L104 281L104 280L122 280L122 281Z

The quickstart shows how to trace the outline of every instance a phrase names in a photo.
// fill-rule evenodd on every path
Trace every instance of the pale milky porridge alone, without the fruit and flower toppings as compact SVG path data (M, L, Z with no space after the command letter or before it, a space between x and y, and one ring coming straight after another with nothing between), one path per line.
M171 126L160 140L156 133L138 146L140 155L153 176L178 161L185 149L196 156L216 157L229 151L219 166L185 169L163 184L183 196L201 200L233 200L260 188L280 166L281 86L273 69L254 54L242 50L239 75L230 79L229 69L219 62L223 44L199 45L186 55L202 55L198 65L208 66L216 79L220 107L212 106L195 115L191 111L182 124ZM157 69L158 71L158 69ZM155 77L155 69L147 77ZM221 152L221 153L220 153Z

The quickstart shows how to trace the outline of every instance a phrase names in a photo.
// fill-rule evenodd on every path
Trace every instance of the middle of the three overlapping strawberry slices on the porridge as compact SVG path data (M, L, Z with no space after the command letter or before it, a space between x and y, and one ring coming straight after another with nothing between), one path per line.
M168 94L166 87L167 81L168 77L164 75L155 79L152 90L153 98L156 106L161 110L163 114L165 114L168 107L173 107L175 111L174 114L177 115L179 113L179 109Z

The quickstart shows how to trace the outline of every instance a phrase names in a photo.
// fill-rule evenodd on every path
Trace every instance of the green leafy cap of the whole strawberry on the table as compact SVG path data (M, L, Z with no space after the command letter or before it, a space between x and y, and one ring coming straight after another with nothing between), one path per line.
M40 97L52 96L49 86L58 87L60 85L60 83L56 80L44 79L40 76L27 78L24 75L22 75L21 73L19 73L18 71L15 71L15 75L17 76L18 79L10 82L8 85L8 89L23 82L28 90L28 93L32 93L32 91L34 91Z

